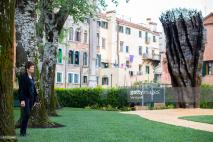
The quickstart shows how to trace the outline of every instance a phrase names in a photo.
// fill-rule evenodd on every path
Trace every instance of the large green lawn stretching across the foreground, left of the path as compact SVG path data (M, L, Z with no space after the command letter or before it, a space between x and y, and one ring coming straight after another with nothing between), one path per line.
M19 111L15 110L16 117ZM55 122L63 128L29 129L20 142L212 142L213 133L176 127L137 115L100 110L63 108ZM17 118L16 118L17 119ZM16 130L17 135L19 129Z

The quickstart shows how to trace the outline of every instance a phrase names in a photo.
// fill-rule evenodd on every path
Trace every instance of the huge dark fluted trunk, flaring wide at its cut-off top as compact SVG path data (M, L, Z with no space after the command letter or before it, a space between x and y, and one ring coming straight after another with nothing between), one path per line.
M160 18L166 35L166 56L178 107L199 107L204 52L201 13L178 9Z

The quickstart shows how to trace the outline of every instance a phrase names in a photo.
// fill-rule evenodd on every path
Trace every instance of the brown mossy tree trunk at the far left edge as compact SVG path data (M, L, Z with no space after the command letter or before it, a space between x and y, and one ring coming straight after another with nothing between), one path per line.
M14 142L13 63L15 1L0 1L0 141Z

